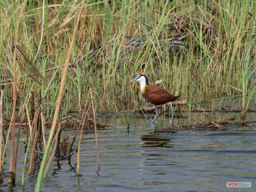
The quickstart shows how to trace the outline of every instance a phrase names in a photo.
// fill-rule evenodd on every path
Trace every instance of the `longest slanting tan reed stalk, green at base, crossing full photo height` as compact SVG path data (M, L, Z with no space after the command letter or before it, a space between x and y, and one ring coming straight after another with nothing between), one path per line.
M85 1L82 2L81 9L80 9L80 12L78 14L77 21L76 21L76 27L74 29L72 39L71 39L71 43L70 43L70 46L69 46L69 49L68 49L68 54L67 54L67 58L66 58L66 62L65 62L65 68L63 70L63 74L62 74L62 78L61 78L58 100L57 100L56 109L55 109L55 113L54 113L54 117L53 117L52 128L51 128L51 132L50 132L50 135L49 135L49 139L47 141L46 149L44 151L44 156L43 156L43 160L42 160L42 163L41 163L41 166L40 166L40 170L38 172L35 191L40 191L40 189L41 189L44 168L45 168L45 164L46 164L46 161L47 161L47 158L48 158L48 155L49 155L50 145L52 144L53 135L54 135L54 131L55 131L58 116L59 116L60 104L61 104L62 94L63 94L65 80L66 80L66 76L67 76L68 63L69 63L72 47L73 47L73 44L74 44L74 40L75 40L75 37L76 37L76 31L77 31L78 24L79 24L79 21L80 21L80 18L81 18L82 10L84 8L84 3L85 3Z

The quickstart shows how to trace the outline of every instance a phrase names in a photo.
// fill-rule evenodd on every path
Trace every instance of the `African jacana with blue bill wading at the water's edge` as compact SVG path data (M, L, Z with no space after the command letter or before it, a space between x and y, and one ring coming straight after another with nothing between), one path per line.
M167 102L172 102L179 98L179 96L174 96L167 91L165 91L162 87L159 87L158 85L148 85L148 79L144 75L138 75L132 81L139 81L140 82L140 91L142 96L150 103L154 104L156 106L156 117L151 121L154 124L154 121L156 120L158 116L157 112L157 105L167 104ZM174 108L170 105L168 105L172 109L172 119L171 119L171 126L173 121L173 112Z

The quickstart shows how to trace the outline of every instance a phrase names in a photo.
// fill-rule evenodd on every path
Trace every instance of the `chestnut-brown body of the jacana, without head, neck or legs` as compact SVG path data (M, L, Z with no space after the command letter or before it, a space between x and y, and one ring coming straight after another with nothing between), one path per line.
M144 87L145 91L142 92L142 96L150 103L154 105L162 105L167 102L172 102L178 99L178 96L174 96L162 87L158 85L146 85Z

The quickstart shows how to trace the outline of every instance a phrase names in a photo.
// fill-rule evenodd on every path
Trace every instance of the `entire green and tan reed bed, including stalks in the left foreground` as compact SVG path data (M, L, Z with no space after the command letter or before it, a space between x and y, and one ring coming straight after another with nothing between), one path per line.
M138 84L129 84L138 74L180 95L187 103L180 107L184 113L203 101L213 109L223 99L239 98L241 105L230 110L240 110L245 119L256 102L255 6L253 0L1 1L0 131L3 119L11 119L8 135L11 126L15 135L18 120L29 126L28 175L37 174L34 152L43 142L46 153L36 190L60 141L57 122L71 109L87 111L84 126L89 111L96 133L95 114L136 113L145 106ZM52 122L49 138L44 134L47 122ZM19 139L12 137L10 185L15 184L15 142L17 150ZM70 157L74 140L65 142ZM28 150L23 178L27 156ZM79 159L77 168L79 173Z

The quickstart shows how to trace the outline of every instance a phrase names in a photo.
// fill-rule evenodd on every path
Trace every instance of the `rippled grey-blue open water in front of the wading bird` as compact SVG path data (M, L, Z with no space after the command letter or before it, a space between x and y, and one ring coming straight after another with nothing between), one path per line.
M42 191L256 190L255 125L218 132L154 135L150 120L132 121L129 134L126 118L112 118L107 122L122 126L98 130L100 170L94 134L84 135L80 176L73 169L76 155L70 164L57 158ZM18 175L21 175L23 158L20 157ZM13 189L20 191L20 179L17 180ZM252 187L227 188L226 182L231 181L251 182ZM24 189L34 190L35 182L36 178L27 179Z

